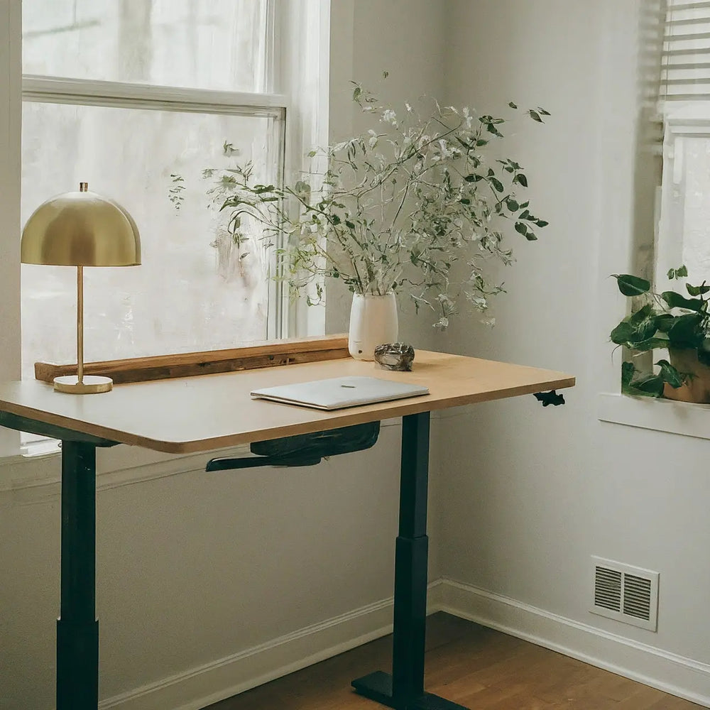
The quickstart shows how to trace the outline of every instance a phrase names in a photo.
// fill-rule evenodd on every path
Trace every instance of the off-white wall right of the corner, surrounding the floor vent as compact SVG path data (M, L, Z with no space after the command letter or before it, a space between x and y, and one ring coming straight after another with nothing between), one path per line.
M577 387L561 408L525 398L447 420L441 565L445 576L493 593L486 603L512 599L500 623L518 632L535 635L521 621L527 605L532 616L561 617L570 633L581 623L630 641L627 650L686 657L675 661L697 672L681 690L710 702L707 442L596 416L597 394L612 391L610 382L618 391L608 333L623 299L607 275L629 267L634 207L653 209L650 200L635 205L633 192L637 36L647 6L449 4L447 100L493 112L512 99L552 116L521 127L506 147L528 168L532 207L550 226L535 244L518 245L508 294L496 302L498 325L454 326L447 348L574 373ZM657 633L587 611L591 555L660 572ZM471 614L485 617L484 597L469 591ZM595 657L591 646L575 650ZM668 684L675 661L664 671ZM643 674L633 663L619 665Z

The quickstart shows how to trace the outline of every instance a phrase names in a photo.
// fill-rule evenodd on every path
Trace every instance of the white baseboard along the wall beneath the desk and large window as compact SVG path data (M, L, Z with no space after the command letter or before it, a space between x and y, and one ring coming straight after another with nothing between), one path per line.
M441 580L429 586L439 611ZM326 621L99 702L99 710L199 710L313 663L392 633L393 599ZM373 669L376 670L376 669Z

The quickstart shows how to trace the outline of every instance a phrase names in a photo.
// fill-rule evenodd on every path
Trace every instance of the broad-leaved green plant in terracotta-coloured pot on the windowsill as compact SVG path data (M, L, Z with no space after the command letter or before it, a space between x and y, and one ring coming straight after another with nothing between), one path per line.
M668 272L670 279L687 275L685 266ZM632 356L656 349L669 354L669 359L655 362L658 369L652 372L639 371L633 361L624 362L622 392L710 403L710 285L703 281L698 286L686 284L686 293L655 293L645 278L614 276L621 293L631 300L631 312L611 331L611 341L626 347Z

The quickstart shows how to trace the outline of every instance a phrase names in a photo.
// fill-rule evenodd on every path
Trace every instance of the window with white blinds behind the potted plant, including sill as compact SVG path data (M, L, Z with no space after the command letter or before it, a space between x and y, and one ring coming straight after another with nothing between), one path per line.
M608 274L628 270L654 280L656 290L667 285L677 290L682 283L670 285L667 271L685 263L689 283L710 281L710 1L648 0L631 11L638 15L628 18L633 23L620 26L627 35L636 26L638 37L625 36L622 42L618 30L612 31L616 46L623 47L623 62L613 57L606 78L608 89L622 89L613 95L616 110L637 121L638 149L635 165L618 160L628 151L623 141L633 134L629 118L622 124L626 132L620 133L618 153L608 164L616 169L621 163L621 170L607 173L610 238L602 242L599 274L605 336L626 305L618 290L610 288ZM623 15L621 5L614 9L617 14ZM628 80L632 67L635 85ZM606 125L616 129L618 114ZM710 438L709 405L620 395L619 358L612 362L608 352L607 342L599 352L599 379L606 389L598 398L600 420ZM655 351L645 363L639 358L637 366L650 369L664 355Z

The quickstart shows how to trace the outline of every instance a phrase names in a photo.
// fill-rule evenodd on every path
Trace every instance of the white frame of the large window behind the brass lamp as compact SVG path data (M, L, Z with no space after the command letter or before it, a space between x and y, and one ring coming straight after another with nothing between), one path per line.
M302 156L328 139L329 107L329 0L268 0L267 93L217 92L121 82L22 77L21 0L0 0L0 284L4 305L0 309L0 379L21 376L20 325L20 176L21 105L23 100L114 107L160 108L180 111L239 111L254 115L274 110L285 115L285 153L281 170L290 175L302 165ZM304 55L303 49L307 48ZM274 92L274 86L282 89ZM304 91L304 87L308 91ZM283 91L283 89L287 89ZM4 110L6 107L6 111ZM226 108L225 108L226 107ZM305 299L289 300L280 283L273 283L281 317L270 326L268 337L300 337L324 334L324 309L308 308ZM41 454L56 455L58 449ZM126 466L126 456L113 449L102 452L109 459L107 471ZM26 454L18 432L0 427L0 464L21 460ZM153 452L136 449L131 465L143 466L155 459ZM163 455L161 455L161 460Z

